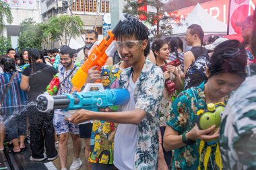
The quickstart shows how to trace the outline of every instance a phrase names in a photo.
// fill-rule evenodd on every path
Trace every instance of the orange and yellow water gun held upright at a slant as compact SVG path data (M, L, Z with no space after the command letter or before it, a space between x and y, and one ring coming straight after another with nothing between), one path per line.
M84 62L82 67L75 73L73 78L71 79L71 83L73 85L72 91L81 91L81 88L85 85L86 79L88 77L88 70L94 66L98 66L97 70L100 70L102 66L105 65L106 60L108 59L108 55L106 54L106 49L110 44L115 40L115 30L119 27L119 24L123 22L127 17L131 17L128 14L121 15L119 23L115 28L111 31L108 31L108 36L103 38L103 40L98 44L98 46L94 46L88 59Z

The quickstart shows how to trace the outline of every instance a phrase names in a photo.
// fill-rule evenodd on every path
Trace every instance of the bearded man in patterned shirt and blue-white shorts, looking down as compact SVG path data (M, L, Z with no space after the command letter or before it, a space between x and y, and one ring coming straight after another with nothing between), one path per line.
M64 46L60 52L61 65L59 66L60 87L57 95L71 93L71 79L78 68L74 65L73 50L69 46ZM61 170L66 170L67 164L67 140L69 132L73 140L74 158L70 170L79 169L82 161L79 159L81 150L81 140L79 138L79 129L77 124L72 124L65 120L65 114L61 110L55 110L53 118L55 132L59 135L59 159L61 161Z

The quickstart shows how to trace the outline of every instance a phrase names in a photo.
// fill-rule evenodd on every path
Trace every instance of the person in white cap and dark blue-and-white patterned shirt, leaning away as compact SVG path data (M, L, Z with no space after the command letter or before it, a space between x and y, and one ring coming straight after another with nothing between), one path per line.
M203 81L207 81L206 75L206 66L210 60L210 56L212 56L213 50L218 44L224 42L228 39L226 38L218 38L214 43L206 45L205 48L207 52L199 56L187 70L185 76L184 89L189 89L191 87L197 87Z

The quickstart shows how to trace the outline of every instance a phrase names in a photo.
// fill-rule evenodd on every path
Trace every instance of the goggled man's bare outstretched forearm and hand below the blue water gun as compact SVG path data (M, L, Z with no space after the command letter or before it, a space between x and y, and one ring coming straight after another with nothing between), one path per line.
M88 120L103 120L119 124L139 124L146 116L144 110L135 108L125 112L92 112L89 110L78 110L68 120L73 124L79 124Z

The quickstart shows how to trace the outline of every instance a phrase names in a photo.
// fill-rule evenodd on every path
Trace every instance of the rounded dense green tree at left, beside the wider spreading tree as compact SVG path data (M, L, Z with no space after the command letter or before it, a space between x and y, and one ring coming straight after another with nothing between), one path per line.
M38 24L35 24L32 18L24 19L19 30L19 49L37 48L38 50L41 50L41 44L42 34Z

